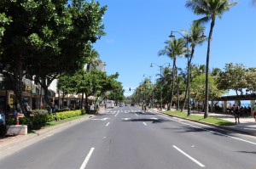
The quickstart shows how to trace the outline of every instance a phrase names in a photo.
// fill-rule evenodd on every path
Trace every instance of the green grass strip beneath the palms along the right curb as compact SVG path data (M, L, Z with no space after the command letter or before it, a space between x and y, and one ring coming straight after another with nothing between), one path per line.
M218 126L234 126L234 125L236 125L236 123L234 123L234 122L225 121L223 119L218 119L218 118L211 117L211 116L208 116L207 118L204 118L203 115L189 115L188 116L188 113L177 111L177 110L176 111L168 110L168 111L165 111L165 113L167 115L176 115L178 117L182 117L185 119L194 120L194 121L203 121L203 122L207 122L207 123L218 125Z

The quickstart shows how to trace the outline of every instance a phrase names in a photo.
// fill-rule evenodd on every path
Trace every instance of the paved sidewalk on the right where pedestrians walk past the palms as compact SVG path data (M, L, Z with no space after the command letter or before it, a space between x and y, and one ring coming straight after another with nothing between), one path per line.
M153 110L157 111L156 109L153 109ZM166 110L163 110L161 113L165 113L165 111ZM184 110L184 111L187 112L187 110ZM198 111L191 110L191 114L204 115L204 112L198 112ZM223 119L225 121L231 121L231 122L234 122L234 123L236 122L235 118L234 118L234 115L225 115L225 114L211 113L211 112L209 112L208 115L211 116L211 117L216 117L218 119ZM174 115L172 115L172 116L174 116ZM188 119L186 119L186 120L188 120ZM206 122L201 122L201 121L196 121L196 122L207 124ZM212 124L207 124L207 125L222 128L222 129L225 129L225 130L230 130L232 132L239 132L239 133L242 133L242 134L256 136L256 121L254 120L252 115L249 116L249 117L240 117L240 123L238 123L234 126L220 127L220 126L212 125Z

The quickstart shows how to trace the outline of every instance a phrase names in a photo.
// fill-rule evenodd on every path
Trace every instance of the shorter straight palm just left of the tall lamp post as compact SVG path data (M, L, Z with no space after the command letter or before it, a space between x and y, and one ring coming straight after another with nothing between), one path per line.
M172 106L172 98L173 98L173 89L174 89L174 76L176 75L176 59L177 56L183 56L186 51L185 48L185 40L183 38L171 39L167 40L166 48L159 51L159 55L167 55L172 59L172 88L171 88L171 102L168 106L168 110L171 109Z

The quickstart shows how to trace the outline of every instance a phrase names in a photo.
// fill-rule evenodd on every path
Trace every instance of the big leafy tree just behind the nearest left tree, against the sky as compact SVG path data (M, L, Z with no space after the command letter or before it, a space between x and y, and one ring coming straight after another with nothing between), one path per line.
M105 6L100 8L100 4L94 1L87 3L84 0L73 0L68 5L67 11L71 16L72 27L64 31L66 37L59 42L61 54L43 54L37 60L41 69L35 69L34 73L41 78L41 85L45 91L48 90L49 82L57 76L73 74L83 68L85 63L91 65L91 60L98 57L97 52L91 49L91 43L105 35L102 15L106 9ZM45 83L46 79L49 79L48 83ZM44 99L48 100L47 96ZM48 104L53 107L50 102Z

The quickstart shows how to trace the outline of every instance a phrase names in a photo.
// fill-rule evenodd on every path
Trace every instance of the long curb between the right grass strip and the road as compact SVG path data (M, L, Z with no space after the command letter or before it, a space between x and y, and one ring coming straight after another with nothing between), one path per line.
M155 111L155 110L153 110L153 111ZM216 128L228 130L228 131L231 131L231 132L238 132L238 133L241 133L241 134L247 134L247 135L256 137L255 132L246 132L246 131L242 131L242 130L239 130L239 129L236 129L236 128L231 128L231 127L226 127L226 126L222 127L222 126L218 126L218 125L211 124L211 123L204 122L204 121L195 121L193 119L187 119L187 118L183 118L183 117L180 117L180 116L177 116L177 115L170 115L170 114L167 114L163 111L155 111L155 112L158 112L158 113L161 113L161 114L164 114L164 115L168 115L168 116L172 116L172 117L177 117L177 118L180 118L180 119L183 119L183 120L186 120L186 121L193 121L193 122L201 123L201 124L204 124L204 125L207 125L207 126L216 127Z

